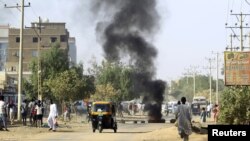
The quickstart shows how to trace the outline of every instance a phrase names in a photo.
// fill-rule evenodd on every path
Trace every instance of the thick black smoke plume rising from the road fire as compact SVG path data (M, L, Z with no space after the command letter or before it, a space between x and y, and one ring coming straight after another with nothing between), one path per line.
M129 56L137 70L132 78L134 93L144 94L149 116L161 119L165 82L153 79L157 50L150 43L159 27L156 0L93 0L92 4L94 13L108 15L96 27L105 58L119 62Z

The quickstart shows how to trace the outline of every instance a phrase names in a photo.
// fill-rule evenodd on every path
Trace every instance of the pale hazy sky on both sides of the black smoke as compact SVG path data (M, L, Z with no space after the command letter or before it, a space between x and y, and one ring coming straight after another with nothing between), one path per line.
M193 72L208 74L209 58L214 59L212 75L216 77L216 54L219 54L219 68L222 68L223 52L232 33L225 23L237 22L236 16L230 15L230 10L233 13L250 13L248 1L157 0L160 28L152 40L158 51L156 78L169 81ZM26 5L28 2L31 7L25 8L25 26L38 21L39 16L50 22L65 22L70 36L76 38L78 62L83 62L88 68L91 59L103 59L104 53L95 32L98 19L90 11L91 0L25 0ZM4 4L12 6L16 3L20 4L20 0L0 0L0 25L20 26L18 9L4 8ZM249 19L250 16L246 17L245 22L249 23ZM239 31L235 32L239 34ZM234 45L237 44L234 40ZM223 78L222 75L219 77Z

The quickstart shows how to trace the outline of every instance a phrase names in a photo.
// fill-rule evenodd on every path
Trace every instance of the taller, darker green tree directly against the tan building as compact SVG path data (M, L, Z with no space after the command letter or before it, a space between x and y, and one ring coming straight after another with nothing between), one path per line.
M57 74L69 69L67 51L60 49L60 44L56 43L50 49L41 53L40 56L40 80L41 93L43 98L53 97L47 80L53 79ZM29 97L37 97L38 95L38 60L32 60L29 64L32 71L30 79L25 81L24 91Z

